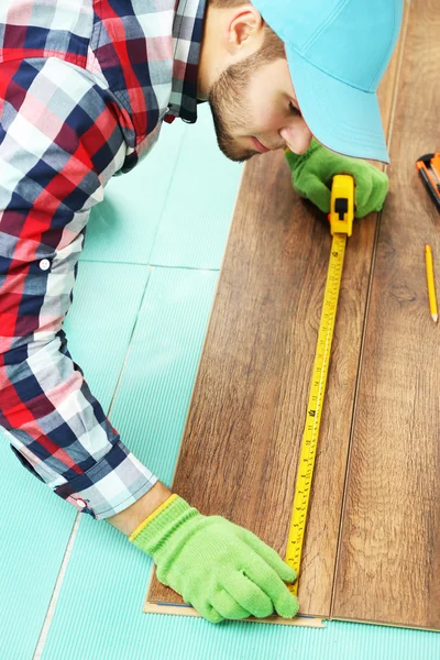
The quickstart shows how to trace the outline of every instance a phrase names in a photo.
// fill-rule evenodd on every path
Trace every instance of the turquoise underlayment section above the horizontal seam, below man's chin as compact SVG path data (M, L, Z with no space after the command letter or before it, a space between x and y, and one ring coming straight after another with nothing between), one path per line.
M209 108L194 125L164 124L133 172L110 179L81 260L219 268L241 166L217 147Z

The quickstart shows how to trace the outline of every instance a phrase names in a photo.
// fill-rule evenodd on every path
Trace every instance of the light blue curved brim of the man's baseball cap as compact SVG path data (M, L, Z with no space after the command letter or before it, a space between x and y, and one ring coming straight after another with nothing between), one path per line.
M375 92L332 78L288 44L286 54L299 109L315 138L341 154L389 163Z

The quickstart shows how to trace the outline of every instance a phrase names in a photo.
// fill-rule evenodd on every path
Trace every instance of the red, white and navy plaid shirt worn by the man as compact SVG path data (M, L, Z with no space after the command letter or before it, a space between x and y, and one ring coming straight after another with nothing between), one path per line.
M0 427L57 495L108 518L156 483L62 330L91 207L162 121L197 118L205 0L1 0Z

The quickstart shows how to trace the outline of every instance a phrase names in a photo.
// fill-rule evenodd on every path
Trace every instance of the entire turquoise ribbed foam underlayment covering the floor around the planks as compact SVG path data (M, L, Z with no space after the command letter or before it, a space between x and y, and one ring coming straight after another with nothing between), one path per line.
M178 121L164 127L176 132L162 136L138 169L109 184L114 193L106 212L102 202L90 219L65 323L73 356L105 408L123 370L110 419L165 483L174 473L218 277L197 268L216 270L221 263L241 176L239 166L216 153L208 116L200 117L195 127ZM164 144L167 148L160 151ZM205 145L219 158L212 169L209 162L200 167ZM158 183L141 204L148 164ZM202 190L197 189L200 182ZM190 212L191 205L197 213ZM185 208L183 226L179 211ZM174 267L151 268L152 263ZM8 442L0 443L0 658L28 660L76 512L20 465ZM440 636L426 631L336 622L318 630L240 622L212 626L199 618L146 615L142 606L151 566L151 559L120 532L82 516L38 657L440 658Z

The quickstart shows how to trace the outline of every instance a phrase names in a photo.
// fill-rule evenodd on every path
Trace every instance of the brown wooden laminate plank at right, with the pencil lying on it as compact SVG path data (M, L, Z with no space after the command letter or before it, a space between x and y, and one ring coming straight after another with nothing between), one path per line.
M410 9L353 427L332 617L440 629L440 216L416 160L440 148L440 4Z

